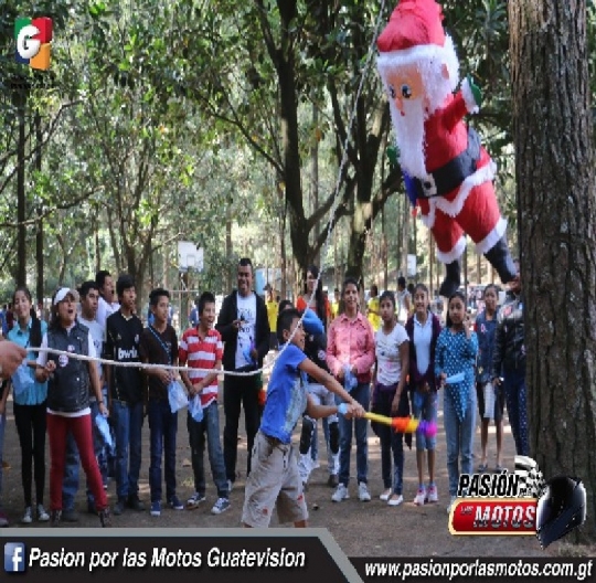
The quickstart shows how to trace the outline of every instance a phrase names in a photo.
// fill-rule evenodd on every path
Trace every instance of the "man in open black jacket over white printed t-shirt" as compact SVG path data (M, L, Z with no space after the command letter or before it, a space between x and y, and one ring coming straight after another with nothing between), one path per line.
M222 304L215 329L224 341L223 368L226 371L247 372L263 367L263 359L269 351L269 321L267 308L262 297L253 292L253 263L243 258L238 263L238 288L234 289ZM258 375L224 377L224 462L230 490L236 479L236 457L238 448L238 421L241 404L244 407L248 463L259 424Z

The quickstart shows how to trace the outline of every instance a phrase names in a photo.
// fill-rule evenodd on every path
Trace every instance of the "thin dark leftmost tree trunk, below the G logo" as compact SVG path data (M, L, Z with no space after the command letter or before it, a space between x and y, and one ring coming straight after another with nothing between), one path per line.
M25 113L26 93L18 92L19 141L17 144L17 286L26 285Z

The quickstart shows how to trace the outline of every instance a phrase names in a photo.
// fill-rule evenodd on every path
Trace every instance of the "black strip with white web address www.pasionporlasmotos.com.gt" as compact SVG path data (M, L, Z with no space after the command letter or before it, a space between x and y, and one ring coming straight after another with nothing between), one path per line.
M478 582L507 583L596 582L596 559L475 559L475 558L381 558L350 559L364 583L373 581L424 581L425 583Z

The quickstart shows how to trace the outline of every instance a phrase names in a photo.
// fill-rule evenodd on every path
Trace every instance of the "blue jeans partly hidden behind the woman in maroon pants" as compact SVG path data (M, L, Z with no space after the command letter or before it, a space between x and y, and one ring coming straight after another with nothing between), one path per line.
M105 395L104 395L105 399ZM97 402L92 401L89 403L92 427L93 427L93 448L97 464L99 466L99 473L102 474L102 481L107 484L107 457L106 447L104 445L104 438L97 430L95 424L95 417L99 413L99 406ZM78 456L78 449L72 433L68 432L66 436L66 464L64 466L64 479L62 481L62 505L64 510L74 510L74 500L76 492L78 491L78 471L81 469L81 458ZM87 480L87 502L89 505L95 504L95 497L89 488Z

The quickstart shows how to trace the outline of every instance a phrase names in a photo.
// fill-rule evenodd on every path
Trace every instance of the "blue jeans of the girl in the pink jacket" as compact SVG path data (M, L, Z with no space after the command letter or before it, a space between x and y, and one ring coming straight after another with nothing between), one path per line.
M359 383L350 394L358 401L365 411L369 411L371 400L371 386L369 383ZM336 395L336 403L340 404L342 400ZM339 481L348 487L350 481L350 454L352 452L352 427L355 426L356 442L356 479L368 484L366 475L369 473L369 442L366 433L369 422L365 418L347 420L339 415L340 430L340 471Z

